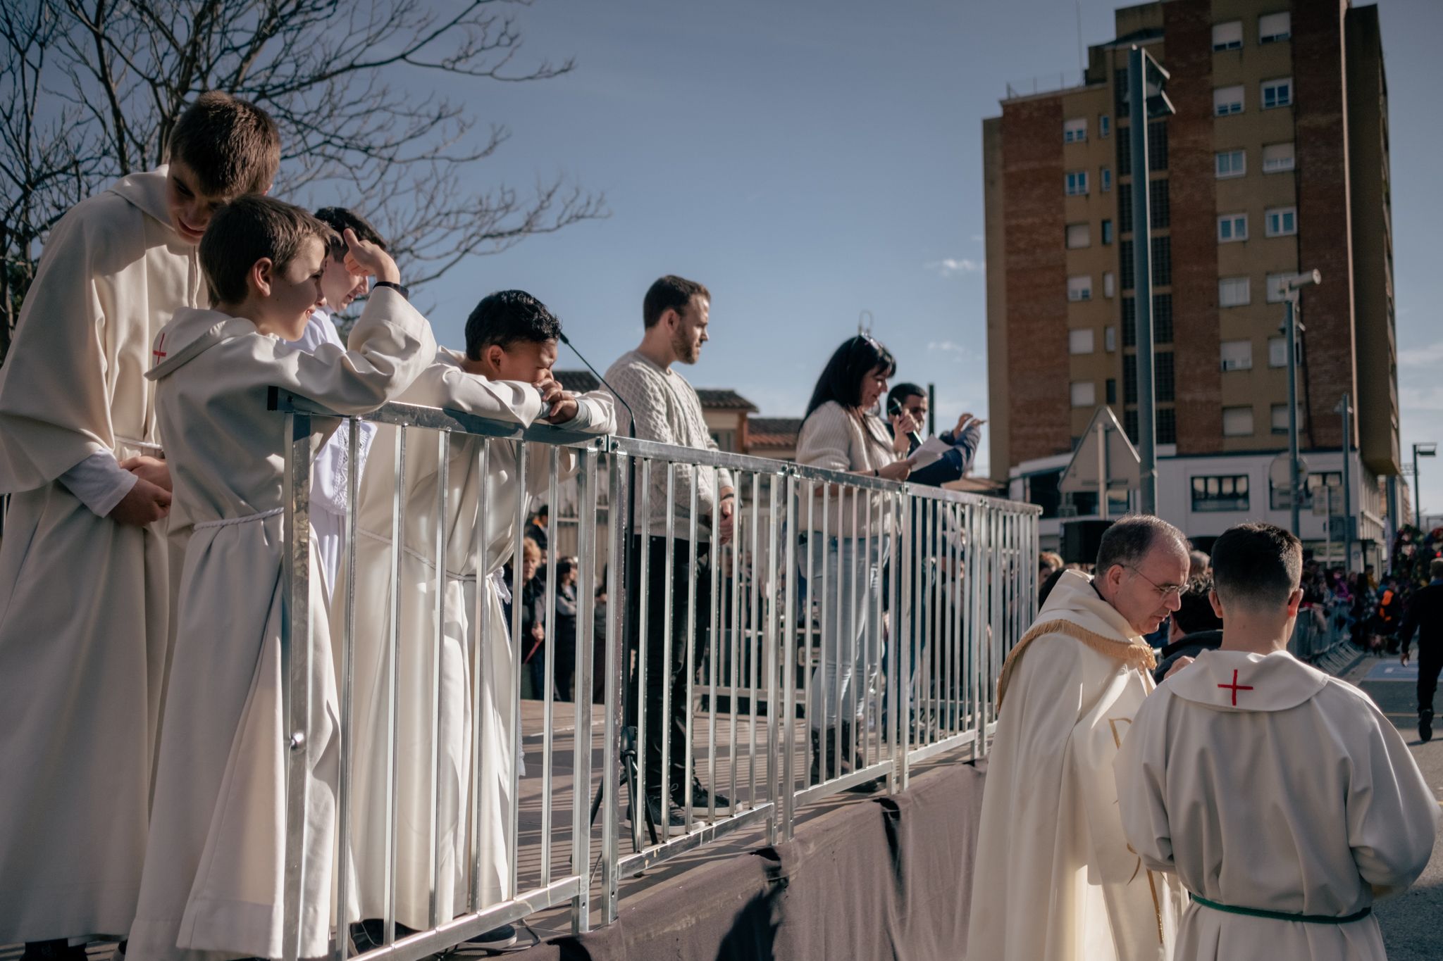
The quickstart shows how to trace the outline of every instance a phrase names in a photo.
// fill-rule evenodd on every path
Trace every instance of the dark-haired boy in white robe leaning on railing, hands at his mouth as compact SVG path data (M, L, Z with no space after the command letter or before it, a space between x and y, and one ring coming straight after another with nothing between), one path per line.
M522 291L491 294L466 321L466 353L442 349L434 363L398 398L404 403L449 408L521 426L534 422L579 434L608 434L615 428L610 396L574 396L551 377L560 321ZM387 716L390 707L390 620L395 592L391 584L391 504L395 491L392 457L397 428L381 425L372 445L372 465L361 483L355 575L355 827L349 844L361 893L361 918L385 912L387 849ZM543 493L550 477L545 444L527 445L527 475L518 477L517 442L485 441L452 434L446 474L446 624L442 637L436 824L440 849L437 921L468 909L468 876L479 863L479 906L515 895L506 852L515 817L514 777L519 752L515 726L518 657L502 614L502 565L511 558L518 519L530 497ZM482 454L485 448L485 454ZM482 464L482 455L485 462ZM569 477L576 457L560 450L558 480ZM433 689L436 651L436 529L440 455L436 435L411 431L405 445L405 504L400 586L400 705L397 743L397 876L395 911L403 928L429 928L431 827L431 725L437 722ZM479 602L478 602L479 592ZM345 576L332 608L338 657L343 644ZM478 624L478 615L482 622ZM481 771L476 836L468 837L472 775L473 658L481 666L483 712L479 730ZM380 939L378 925L367 937ZM475 939L502 948L515 941L504 925Z

